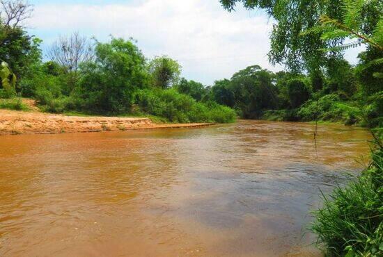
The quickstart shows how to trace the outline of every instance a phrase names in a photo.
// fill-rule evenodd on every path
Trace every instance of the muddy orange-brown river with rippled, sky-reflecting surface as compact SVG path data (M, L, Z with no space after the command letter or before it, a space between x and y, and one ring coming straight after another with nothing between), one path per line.
M321 256L309 213L369 139L320 125L315 152L312 124L259 121L2 136L0 256Z

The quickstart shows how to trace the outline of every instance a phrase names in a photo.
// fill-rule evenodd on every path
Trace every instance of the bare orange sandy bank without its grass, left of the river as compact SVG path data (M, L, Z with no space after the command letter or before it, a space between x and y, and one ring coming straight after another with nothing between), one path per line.
M209 125L212 124L156 124L145 117L80 117L40 113L38 110L0 110L0 135L85 133Z

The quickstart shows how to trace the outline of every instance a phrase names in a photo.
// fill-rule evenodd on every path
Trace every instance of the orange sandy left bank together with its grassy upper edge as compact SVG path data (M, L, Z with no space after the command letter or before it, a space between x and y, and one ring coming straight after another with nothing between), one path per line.
M33 99L0 99L0 135L87 133L153 128L195 128L215 123L169 123L153 115L102 116L42 112Z

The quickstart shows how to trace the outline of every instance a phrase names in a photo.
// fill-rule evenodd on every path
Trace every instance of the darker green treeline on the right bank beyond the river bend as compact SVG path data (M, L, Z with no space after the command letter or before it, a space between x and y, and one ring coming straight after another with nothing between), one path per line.
M361 53L361 57L365 53ZM215 81L211 99L249 119L329 121L377 126L382 122L382 64L356 66L334 60L336 69L317 74L270 72L258 65Z

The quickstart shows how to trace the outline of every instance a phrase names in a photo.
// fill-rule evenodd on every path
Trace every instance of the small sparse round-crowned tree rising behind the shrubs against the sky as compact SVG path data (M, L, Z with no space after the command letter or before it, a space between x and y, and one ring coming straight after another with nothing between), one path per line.
M154 85L159 88L169 88L177 85L180 80L181 65L167 56L154 58L148 65L153 76Z

